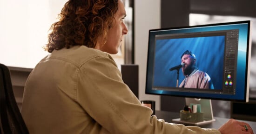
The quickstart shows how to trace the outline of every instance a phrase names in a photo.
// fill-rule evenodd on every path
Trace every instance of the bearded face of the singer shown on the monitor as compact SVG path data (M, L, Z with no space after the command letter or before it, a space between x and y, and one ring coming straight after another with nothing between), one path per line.
M189 54L184 54L182 56L182 63L184 63L184 66L182 67L183 74L189 75L194 68L195 59Z

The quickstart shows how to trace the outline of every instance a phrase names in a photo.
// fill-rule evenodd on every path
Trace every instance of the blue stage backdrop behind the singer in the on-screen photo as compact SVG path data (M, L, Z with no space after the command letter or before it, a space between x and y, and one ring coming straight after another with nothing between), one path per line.
M181 64L181 55L190 50L196 56L197 67L209 74L214 88L222 89L225 36L156 40L155 87L176 87L177 71L169 68ZM179 71L179 85L184 79Z

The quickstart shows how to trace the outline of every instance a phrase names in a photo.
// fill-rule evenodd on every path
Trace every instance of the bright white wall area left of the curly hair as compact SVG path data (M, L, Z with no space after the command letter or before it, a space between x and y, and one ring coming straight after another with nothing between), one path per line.
M48 53L48 29L67 0L0 0L0 63L34 68Z

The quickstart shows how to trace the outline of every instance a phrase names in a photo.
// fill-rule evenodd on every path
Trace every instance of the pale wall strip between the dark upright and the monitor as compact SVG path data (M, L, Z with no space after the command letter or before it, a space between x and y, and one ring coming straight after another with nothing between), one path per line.
M161 27L161 0L134 0L135 64L139 65L139 99L155 100L155 109L160 110L160 96L145 94L148 31Z

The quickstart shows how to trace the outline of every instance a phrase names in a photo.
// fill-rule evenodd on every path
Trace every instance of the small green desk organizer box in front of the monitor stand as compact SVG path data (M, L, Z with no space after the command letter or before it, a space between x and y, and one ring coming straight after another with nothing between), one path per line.
M180 118L181 121L188 121L188 122L201 122L203 121L203 112L200 113L190 113L184 110L180 111Z

